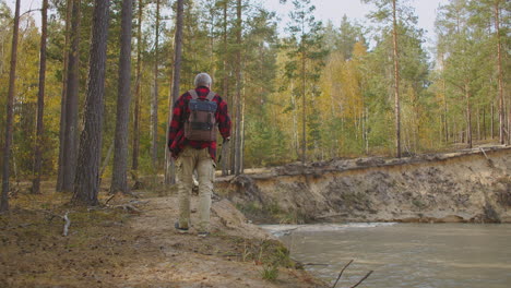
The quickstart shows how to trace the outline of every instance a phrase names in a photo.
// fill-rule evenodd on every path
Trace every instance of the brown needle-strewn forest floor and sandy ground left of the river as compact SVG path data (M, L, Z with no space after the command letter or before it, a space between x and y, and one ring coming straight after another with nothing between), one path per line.
M0 215L0 287L326 287L227 200L214 200L212 233L178 233L177 196L145 189L100 193L100 207L72 207L44 182L14 183ZM192 223L197 221L192 201ZM62 236L68 215L68 236Z

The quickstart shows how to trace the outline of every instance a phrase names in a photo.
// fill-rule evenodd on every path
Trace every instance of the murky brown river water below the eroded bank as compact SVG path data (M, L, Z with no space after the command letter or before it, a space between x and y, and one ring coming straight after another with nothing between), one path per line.
M511 225L346 224L263 226L294 260L336 287L510 288Z

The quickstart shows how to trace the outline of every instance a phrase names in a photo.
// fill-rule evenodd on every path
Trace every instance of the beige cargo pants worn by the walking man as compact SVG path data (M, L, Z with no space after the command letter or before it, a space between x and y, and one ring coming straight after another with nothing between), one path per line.
M179 154L177 161L177 183L179 200L179 227L190 227L190 197L193 188L193 170L199 176L199 232L210 229L211 195L215 176L215 161L207 148L195 149L186 146Z

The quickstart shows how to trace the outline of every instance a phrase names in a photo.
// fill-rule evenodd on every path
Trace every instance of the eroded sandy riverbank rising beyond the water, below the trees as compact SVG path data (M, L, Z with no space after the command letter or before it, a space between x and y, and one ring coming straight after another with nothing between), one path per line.
M511 223L511 147L293 164L219 178L257 223Z

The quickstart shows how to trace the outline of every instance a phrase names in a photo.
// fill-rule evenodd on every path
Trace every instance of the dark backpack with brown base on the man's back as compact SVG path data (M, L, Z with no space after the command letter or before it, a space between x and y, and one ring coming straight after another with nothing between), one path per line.
M185 122L185 137L193 141L216 141L216 108L213 101L214 92L210 92L205 99L200 99L195 89L188 93L192 96L188 103L190 115Z

